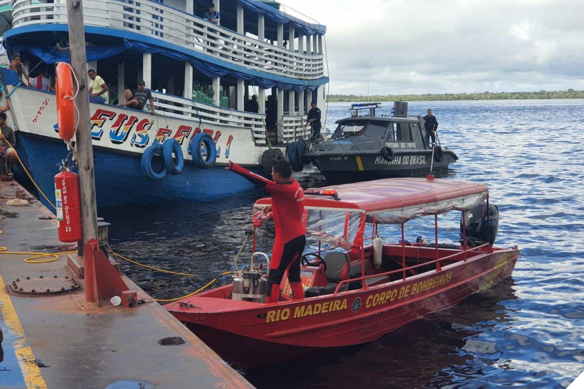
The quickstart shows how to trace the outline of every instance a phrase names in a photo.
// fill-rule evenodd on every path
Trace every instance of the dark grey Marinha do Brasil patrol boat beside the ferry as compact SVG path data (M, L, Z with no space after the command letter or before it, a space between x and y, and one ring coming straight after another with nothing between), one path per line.
M396 101L392 116L377 116L380 107L381 103L352 104L351 116L338 120L335 132L301 157L288 147L290 161L310 160L329 181L440 175L456 162L456 153L442 148L438 138L434 145L427 142L424 120L408 116L408 103ZM300 163L293 167L301 170Z

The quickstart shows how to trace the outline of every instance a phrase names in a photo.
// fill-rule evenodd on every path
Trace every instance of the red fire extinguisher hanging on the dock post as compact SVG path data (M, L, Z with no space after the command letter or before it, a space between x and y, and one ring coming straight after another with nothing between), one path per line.
M81 200L79 176L73 173L67 163L61 173L55 176L55 208L57 208L58 236L62 242L81 240Z

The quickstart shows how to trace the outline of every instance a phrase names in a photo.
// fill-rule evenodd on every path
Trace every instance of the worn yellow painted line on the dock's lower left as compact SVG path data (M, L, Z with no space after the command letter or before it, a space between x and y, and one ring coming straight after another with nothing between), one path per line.
M20 370L22 370L26 387L47 389L47 384L43 379L43 375L40 373L40 368L35 362L36 358L34 358L33 349L27 345L28 340L26 339L25 330L23 330L22 324L20 324L18 314L16 314L12 300L6 291L6 285L4 285L2 275L0 275L0 303L2 303L0 311L2 311L4 323L16 338L13 345L14 352L16 359L18 359Z

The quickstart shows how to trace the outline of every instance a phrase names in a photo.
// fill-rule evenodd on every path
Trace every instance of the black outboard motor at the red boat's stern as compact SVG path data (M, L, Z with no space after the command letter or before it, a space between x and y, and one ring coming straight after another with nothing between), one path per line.
M465 213L460 216L460 238L463 239L463 217ZM489 204L489 212L487 216L486 202L482 202L466 212L466 235L467 246L477 247L488 242L495 244L495 238L499 230L499 208L494 204Z

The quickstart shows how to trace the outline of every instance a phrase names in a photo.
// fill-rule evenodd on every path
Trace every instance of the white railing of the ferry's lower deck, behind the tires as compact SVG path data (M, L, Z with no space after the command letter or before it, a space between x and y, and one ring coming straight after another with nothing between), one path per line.
M183 97L173 96L161 92L152 91L154 97L154 109L159 114L185 119L189 121L200 120L205 124L220 124L239 128L249 128L253 134L253 140L258 146L267 144L266 115L253 112L245 112L200 103ZM281 143L293 142L297 138L307 138L310 128L303 124L306 117L298 113L284 115L282 118Z

